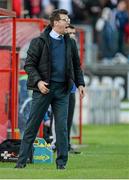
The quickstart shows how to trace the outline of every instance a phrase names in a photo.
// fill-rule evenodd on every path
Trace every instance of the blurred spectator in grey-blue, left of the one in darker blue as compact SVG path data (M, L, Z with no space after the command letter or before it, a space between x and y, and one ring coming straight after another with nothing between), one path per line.
M117 51L117 33L115 27L111 24L111 19L111 9L104 8L101 17L96 23L101 58L111 59Z

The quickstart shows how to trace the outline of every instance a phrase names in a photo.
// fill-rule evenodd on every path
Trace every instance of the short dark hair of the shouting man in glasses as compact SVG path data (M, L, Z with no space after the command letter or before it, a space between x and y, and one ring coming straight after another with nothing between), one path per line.
M50 25L54 25L55 20L60 20L60 14L68 15L68 11L66 9L55 9L52 14L49 16Z

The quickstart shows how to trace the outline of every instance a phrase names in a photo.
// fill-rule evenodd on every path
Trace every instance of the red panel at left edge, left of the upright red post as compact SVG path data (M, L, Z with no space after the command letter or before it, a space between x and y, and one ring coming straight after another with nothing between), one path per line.
M0 143L7 138L11 97L11 54L0 49Z

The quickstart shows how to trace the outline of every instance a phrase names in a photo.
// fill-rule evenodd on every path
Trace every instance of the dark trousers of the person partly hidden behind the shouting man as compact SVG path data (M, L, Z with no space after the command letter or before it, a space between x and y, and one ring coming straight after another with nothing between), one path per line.
M67 120L69 150L70 150L70 132L73 123L74 109L75 109L75 93L71 93L69 96L68 120Z

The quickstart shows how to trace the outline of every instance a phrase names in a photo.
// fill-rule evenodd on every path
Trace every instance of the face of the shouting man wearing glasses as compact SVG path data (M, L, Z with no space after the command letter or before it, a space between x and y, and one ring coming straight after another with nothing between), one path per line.
M60 14L60 20L54 22L54 30L59 34L64 34L69 23L69 17L66 14Z

